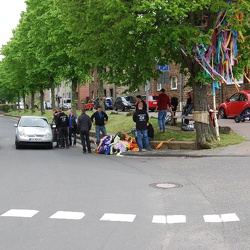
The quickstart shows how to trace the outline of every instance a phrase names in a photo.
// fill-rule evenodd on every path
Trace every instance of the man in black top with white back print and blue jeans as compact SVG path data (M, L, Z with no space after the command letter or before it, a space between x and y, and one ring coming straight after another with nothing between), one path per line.
M150 151L150 145L148 140L148 113L143 110L143 104L138 104L138 110L135 111L133 115L133 121L135 122L136 134L137 134L137 144L139 151L142 151L143 145L145 145L146 150Z

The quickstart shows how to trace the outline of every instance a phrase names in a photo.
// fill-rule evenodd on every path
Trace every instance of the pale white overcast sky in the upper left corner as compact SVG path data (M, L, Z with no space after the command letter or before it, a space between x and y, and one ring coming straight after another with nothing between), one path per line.
M25 0L0 0L0 48L12 37L12 30L19 23L25 8Z

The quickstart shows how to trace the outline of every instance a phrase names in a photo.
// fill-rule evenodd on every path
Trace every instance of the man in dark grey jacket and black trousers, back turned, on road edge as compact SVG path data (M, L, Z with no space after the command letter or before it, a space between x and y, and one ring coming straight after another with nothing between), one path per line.
M77 127L80 132L81 142L82 142L82 150L83 153L86 153L86 146L88 148L88 152L91 153L90 141L89 141L89 131L92 126L91 118L85 113L86 110L82 110L82 114L78 117Z

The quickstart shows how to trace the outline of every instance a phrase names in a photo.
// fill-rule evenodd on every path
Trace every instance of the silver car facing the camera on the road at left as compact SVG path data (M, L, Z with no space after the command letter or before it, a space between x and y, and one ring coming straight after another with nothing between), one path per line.
M16 127L16 149L22 146L46 146L53 148L52 126L43 116L22 116Z

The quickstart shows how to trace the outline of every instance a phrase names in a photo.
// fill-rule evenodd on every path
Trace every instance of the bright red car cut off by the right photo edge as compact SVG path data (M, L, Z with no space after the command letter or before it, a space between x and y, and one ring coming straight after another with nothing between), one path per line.
M237 91L218 107L220 118L240 115L244 109L250 111L250 90Z

